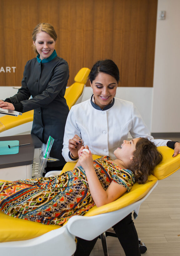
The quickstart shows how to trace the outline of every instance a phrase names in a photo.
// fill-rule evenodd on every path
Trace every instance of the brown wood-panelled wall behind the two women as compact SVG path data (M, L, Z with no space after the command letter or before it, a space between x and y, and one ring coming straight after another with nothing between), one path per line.
M32 30L51 23L57 54L70 79L98 59L113 59L119 86L152 87L157 0L0 0L0 86L20 86L32 51ZM16 67L11 73L6 67ZM5 70L5 72L3 72Z

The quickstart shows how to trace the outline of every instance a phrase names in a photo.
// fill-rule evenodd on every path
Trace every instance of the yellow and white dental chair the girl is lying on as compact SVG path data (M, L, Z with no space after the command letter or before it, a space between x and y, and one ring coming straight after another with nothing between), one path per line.
M180 168L180 155L173 158L173 150L165 146L159 147L159 150L163 154L163 161L148 177L148 182L141 185L135 183L130 192L115 202L102 207L94 206L84 216L73 216L63 227L13 218L0 212L1 255L47 256L58 253L71 256L76 249L75 236L92 240L133 210L138 214L141 203L157 186L158 179L164 179ZM74 163L67 163L63 172L73 169L73 166Z

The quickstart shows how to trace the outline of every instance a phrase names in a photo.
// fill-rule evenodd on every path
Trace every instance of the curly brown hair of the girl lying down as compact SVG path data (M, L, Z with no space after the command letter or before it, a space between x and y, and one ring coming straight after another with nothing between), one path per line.
M135 180L139 184L145 183L155 166L163 160L158 148L147 138L140 138L137 141L133 156L129 169L134 173Z

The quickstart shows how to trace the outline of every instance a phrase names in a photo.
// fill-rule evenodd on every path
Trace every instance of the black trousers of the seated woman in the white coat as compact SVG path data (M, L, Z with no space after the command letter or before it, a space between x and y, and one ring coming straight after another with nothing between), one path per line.
M132 220L132 213L114 225L113 229L116 232L126 256L141 256L138 234ZM78 238L74 256L89 256L97 240L98 237L91 241Z

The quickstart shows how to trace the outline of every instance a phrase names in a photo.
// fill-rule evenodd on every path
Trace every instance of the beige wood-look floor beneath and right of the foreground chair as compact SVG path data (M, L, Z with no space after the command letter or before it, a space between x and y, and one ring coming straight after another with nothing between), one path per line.
M172 138L180 141L180 138ZM180 256L180 170L159 181L141 204L134 221L138 237L147 246L144 256ZM107 237L109 256L125 256L118 238ZM98 239L91 256L104 256ZM133 256L133 255L132 255Z

